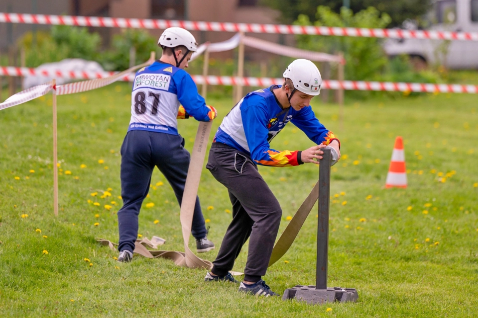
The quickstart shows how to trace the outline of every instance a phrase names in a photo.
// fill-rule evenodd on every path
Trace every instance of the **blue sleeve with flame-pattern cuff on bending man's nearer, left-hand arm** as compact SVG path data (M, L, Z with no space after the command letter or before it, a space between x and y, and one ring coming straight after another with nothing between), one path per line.
M252 160L257 164L276 167L299 165L298 151L270 149L267 142L269 130L266 127L269 115L266 111L267 105L263 100L260 98L258 104L247 105L240 109L244 134Z

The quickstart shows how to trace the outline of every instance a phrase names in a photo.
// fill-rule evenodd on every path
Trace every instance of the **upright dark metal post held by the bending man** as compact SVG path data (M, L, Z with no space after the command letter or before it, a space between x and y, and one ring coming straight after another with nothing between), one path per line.
M316 289L327 289L327 253L329 246L329 198L330 198L330 149L322 149L324 155L319 165L319 217L317 224Z

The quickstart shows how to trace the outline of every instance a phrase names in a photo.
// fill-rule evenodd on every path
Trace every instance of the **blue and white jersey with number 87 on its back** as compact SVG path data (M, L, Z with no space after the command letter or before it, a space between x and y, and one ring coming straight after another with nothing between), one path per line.
M178 135L178 109L198 121L210 121L204 98L184 70L156 61L136 73L131 92L130 130Z

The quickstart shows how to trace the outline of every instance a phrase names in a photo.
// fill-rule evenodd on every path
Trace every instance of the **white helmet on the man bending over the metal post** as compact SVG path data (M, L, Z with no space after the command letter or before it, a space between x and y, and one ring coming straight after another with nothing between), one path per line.
M309 60L298 59L293 61L289 64L283 76L285 79L291 79L294 84L294 89L287 96L289 101L296 89L312 96L320 94L322 77L319 69Z

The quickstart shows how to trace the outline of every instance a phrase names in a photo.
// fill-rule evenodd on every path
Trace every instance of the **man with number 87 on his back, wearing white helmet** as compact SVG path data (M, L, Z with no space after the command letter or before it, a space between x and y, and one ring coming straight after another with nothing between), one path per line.
M207 106L191 76L184 71L193 52L194 36L172 27L159 37L161 58L136 73L131 93L131 120L121 146L121 197L118 211L120 262L130 261L138 235L138 215L148 194L155 166L164 174L181 204L190 155L178 134L177 118L211 121L216 109ZM180 106L180 104L182 106ZM204 217L196 198L191 234L198 252L214 243L207 239Z

